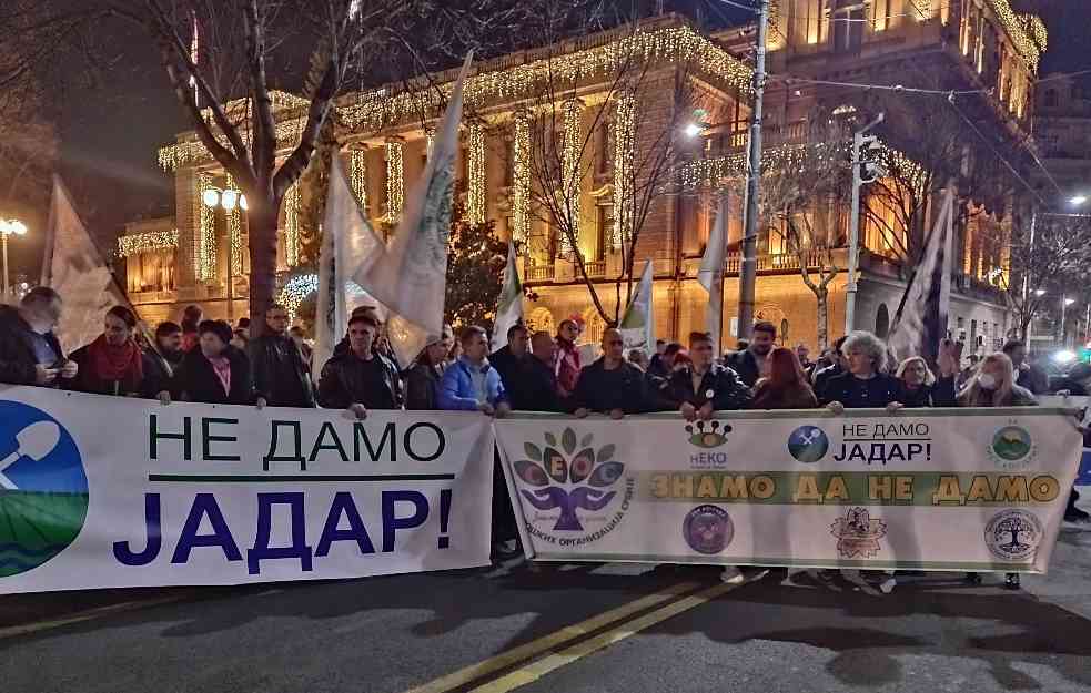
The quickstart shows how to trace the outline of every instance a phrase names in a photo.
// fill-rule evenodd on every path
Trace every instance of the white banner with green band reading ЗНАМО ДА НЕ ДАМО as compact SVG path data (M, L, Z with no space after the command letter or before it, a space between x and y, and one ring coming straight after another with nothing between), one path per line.
M1024 407L494 427L534 560L1044 572L1078 422Z

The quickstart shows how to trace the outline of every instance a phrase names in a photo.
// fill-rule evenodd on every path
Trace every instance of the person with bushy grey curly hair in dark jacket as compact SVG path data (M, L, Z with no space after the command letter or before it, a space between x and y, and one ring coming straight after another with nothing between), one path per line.
M834 414L846 409L902 408L901 384L886 374L887 345L869 332L855 332L841 347L848 373L829 379L822 404Z

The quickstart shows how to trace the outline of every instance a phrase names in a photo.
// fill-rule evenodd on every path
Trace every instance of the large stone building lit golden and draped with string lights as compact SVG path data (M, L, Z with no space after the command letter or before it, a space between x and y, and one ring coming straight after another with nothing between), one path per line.
M774 74L889 84L897 83L892 74L912 65L948 82L999 86L996 96L973 104L974 116L1010 136L1029 126L1044 34L1036 43L1038 24L1010 14L1004 0L777 4L768 44ZM727 190L724 343L731 344L743 204L730 191L741 173L752 100L747 41L745 29L709 35L666 17L635 31L588 35L476 67L466 88L458 177L469 220L495 220L504 238L519 242L524 285L537 296L525 305L534 327L552 330L564 318L579 317L583 338L597 340L624 308L630 281L651 262L659 335L685 339L704 329L707 295L696 274L715 194ZM449 89L454 77L433 79ZM391 86L339 102L341 160L362 206L381 227L396 224L408 185L423 171L438 115L433 99L427 89ZM798 144L792 137L806 132L801 123L817 105L848 104L862 112L867 104L852 106L853 99L851 90L836 85L771 80L769 151ZM277 98L285 153L297 136L301 105L287 94ZM705 121L699 132L686 132L695 118ZM648 164L655 152L666 152L667 165ZM161 162L175 176L175 217L131 225L119 242L134 305L149 320L175 318L189 303L202 304L212 317L241 317L249 272L245 213L202 203L206 191L230 190L231 181L192 133L165 147ZM292 306L316 285L301 253L301 238L313 224L306 210L314 194L305 183L297 185L282 212L280 285ZM1006 259L996 242L1006 211L998 203L962 204L973 213L960 215L951 329L967 343L992 348L1008 329L998 288ZM928 207L919 223L930 225L932 213ZM824 210L824 240L809 254L789 253L775 225L761 224L756 315L780 327L782 342L816 346L816 297L800 265L821 271L830 258L838 272L829 284L829 338L842 332L849 214L845 207ZM976 233L982 225L991 232ZM879 334L889 329L908 276L907 258L892 251L891 233L863 220L855 323ZM910 230L901 233L912 236Z

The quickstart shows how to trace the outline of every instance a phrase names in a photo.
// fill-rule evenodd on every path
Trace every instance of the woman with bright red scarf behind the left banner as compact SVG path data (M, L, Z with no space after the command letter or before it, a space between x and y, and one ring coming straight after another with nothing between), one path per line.
M72 351L79 376L72 389L94 395L129 397L141 394L144 355L133 339L137 316L124 306L114 306L103 318L103 330L94 342Z

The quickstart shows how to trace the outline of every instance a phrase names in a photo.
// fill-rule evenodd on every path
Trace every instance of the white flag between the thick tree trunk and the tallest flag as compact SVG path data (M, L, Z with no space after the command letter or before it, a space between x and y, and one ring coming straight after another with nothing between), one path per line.
M348 277L365 271L386 246L360 207L337 156L330 166L330 194L319 255L319 300L314 324L314 374L333 356L348 330ZM353 283L353 288L357 288ZM356 292L354 292L355 294ZM353 298L357 298L353 296ZM358 303L355 300L353 303Z

